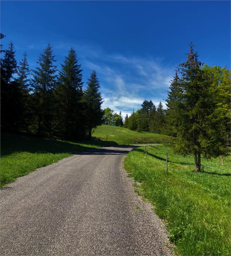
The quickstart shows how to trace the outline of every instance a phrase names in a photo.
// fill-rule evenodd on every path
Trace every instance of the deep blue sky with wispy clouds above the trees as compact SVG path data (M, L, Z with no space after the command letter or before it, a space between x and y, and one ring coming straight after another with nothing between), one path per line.
M143 100L164 103L175 67L194 43L199 60L230 69L230 1L1 1L3 48L27 51L32 69L49 42L63 62L76 50L86 82L123 116Z

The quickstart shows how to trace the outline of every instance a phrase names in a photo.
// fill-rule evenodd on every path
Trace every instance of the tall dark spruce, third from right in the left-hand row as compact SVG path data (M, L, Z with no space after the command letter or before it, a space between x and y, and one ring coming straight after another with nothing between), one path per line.
M52 55L52 48L48 44L44 52L40 54L37 64L39 65L33 70L33 79L31 86L33 87L33 132L38 136L52 135L53 123L53 90L56 86L57 66L55 56Z

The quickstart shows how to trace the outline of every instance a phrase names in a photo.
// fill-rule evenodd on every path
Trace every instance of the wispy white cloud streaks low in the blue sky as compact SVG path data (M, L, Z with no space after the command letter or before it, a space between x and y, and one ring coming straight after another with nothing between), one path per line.
M154 104L167 97L169 81L174 76L174 67L164 64L163 58L142 58L123 54L107 53L100 47L86 43L57 42L52 45L56 58L67 56L73 47L84 70L84 81L91 70L96 70L104 98L103 108L110 107L114 111L122 111L123 117L141 107L142 102L152 100ZM36 49L36 45L28 45L27 49Z

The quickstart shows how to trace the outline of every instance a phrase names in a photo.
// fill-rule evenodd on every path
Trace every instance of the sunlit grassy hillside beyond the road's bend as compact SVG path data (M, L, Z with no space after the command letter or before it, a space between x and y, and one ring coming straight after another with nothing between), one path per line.
M106 141L107 135L109 141L115 141L119 145L159 144L170 141L170 136L168 135L131 131L124 127L111 125L101 125L92 131L92 136L101 141Z

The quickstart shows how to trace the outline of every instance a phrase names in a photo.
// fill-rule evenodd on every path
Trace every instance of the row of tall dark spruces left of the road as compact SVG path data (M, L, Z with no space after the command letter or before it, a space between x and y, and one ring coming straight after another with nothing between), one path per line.
M7 50L1 49L1 55L1 131L68 140L91 138L92 128L102 123L100 84L93 70L83 89L83 70L73 48L60 70L49 44L34 70L26 53L17 64L12 42Z

